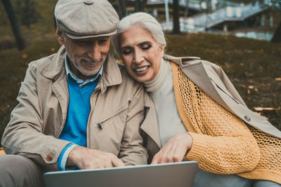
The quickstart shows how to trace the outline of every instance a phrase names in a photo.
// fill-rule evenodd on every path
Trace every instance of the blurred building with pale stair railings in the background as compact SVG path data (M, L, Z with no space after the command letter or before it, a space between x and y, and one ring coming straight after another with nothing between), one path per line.
M133 6L134 2L127 0L126 4ZM270 8L272 5L259 4L258 1L237 4L224 0L178 0L178 4L181 32L233 34L269 41L281 20L280 7L275 6L274 10ZM171 31L172 6L173 0L148 0L145 11L157 15L163 29Z

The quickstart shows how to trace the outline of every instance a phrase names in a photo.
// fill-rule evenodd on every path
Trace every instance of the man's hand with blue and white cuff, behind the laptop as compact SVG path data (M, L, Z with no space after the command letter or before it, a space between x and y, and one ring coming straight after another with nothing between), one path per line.
M105 167L122 167L124 166L124 163L112 153L77 146L70 152L70 155L68 155L66 165L76 165L79 169L96 169Z

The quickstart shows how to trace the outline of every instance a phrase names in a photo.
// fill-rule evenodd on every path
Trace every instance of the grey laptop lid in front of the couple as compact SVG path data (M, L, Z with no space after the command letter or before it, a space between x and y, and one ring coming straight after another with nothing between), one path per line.
M46 172L46 187L190 187L198 162Z

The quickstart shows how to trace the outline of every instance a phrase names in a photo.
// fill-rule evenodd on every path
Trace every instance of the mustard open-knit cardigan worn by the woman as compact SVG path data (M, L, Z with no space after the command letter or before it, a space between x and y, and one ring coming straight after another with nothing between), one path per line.
M246 125L206 95L171 63L176 104L192 136L185 155L201 169L281 183L281 141Z

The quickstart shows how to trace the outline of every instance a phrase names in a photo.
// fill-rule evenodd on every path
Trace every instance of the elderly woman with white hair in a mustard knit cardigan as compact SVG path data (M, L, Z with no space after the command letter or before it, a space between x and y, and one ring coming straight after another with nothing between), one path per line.
M155 104L159 127L143 128L152 164L197 160L194 186L280 186L281 132L247 108L220 67L164 55L148 13L123 18L112 42Z

